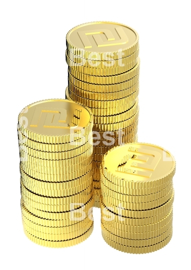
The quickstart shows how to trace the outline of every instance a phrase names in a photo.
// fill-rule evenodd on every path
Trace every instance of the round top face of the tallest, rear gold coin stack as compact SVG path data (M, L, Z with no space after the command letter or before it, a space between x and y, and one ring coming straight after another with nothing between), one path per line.
M98 21L74 27L66 39L77 49L99 53L128 49L137 43L138 34L124 24Z

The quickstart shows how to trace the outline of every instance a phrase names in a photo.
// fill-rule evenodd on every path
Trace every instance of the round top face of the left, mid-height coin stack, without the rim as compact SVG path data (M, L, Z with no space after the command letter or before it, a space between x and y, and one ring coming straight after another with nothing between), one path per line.
M33 103L19 114L26 130L42 135L65 135L84 128L90 122L88 109L65 99L49 99Z

